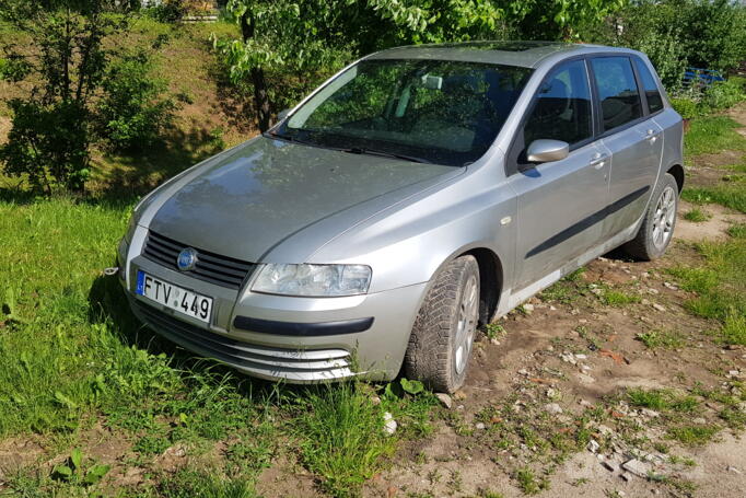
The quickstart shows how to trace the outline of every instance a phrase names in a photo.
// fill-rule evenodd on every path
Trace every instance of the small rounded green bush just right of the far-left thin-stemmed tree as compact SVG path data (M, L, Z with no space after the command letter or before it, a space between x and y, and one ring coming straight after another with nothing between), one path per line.
M176 104L164 96L167 83L153 78L153 62L140 51L112 62L98 103L101 135L115 150L141 150L174 119Z

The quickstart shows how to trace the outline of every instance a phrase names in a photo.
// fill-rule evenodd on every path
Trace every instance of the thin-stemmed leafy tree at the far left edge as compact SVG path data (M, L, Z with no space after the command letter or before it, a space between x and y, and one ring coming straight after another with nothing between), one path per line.
M105 15L100 0L0 0L0 15L33 44L4 47L15 70L3 76L32 77L33 89L9 102L12 128L0 162L7 174L25 175L47 194L57 187L82 192L90 174L91 102L108 56L102 42L121 24Z

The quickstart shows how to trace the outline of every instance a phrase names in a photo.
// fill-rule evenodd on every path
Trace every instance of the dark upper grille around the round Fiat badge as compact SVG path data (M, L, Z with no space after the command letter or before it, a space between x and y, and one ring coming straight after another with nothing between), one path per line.
M178 253L186 247L191 246L150 231L142 255L166 268L178 270L176 258ZM195 268L183 273L210 283L238 289L255 266L252 263L221 256L198 247L194 248L199 253Z

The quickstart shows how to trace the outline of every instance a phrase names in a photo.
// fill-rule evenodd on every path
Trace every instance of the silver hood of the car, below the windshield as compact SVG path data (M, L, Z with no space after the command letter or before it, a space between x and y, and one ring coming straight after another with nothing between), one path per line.
M185 245L259 262L317 221L351 211L334 230L326 223L322 239L331 239L458 170L259 137L208 161L149 224Z

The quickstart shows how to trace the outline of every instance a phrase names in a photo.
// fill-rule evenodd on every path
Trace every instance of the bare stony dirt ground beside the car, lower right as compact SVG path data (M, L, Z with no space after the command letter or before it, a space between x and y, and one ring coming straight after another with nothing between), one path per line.
M680 236L678 229L676 236ZM516 472L526 467L533 467L537 482L544 479L543 486L548 486L540 496L606 496L615 490L643 496L652 489L681 495L676 486L684 485L707 487L702 496L739 496L734 490L746 488L746 472L731 472L722 480L718 474L728 465L743 466L738 454L746 450L738 448L716 461L708 453L737 445L732 436L725 436L732 445L721 450L714 449L716 445L712 450L676 448L678 456L692 459L698 473L690 475L681 465L661 464L666 476L656 483L629 473L629 480L621 477L618 466L629 460L625 453L629 445L623 451L608 451L605 459L617 468L610 472L598 454L584 450L555 462L552 453L543 452L540 447L503 447L490 435L505 421L492 417L494 427L490 420L486 427L481 422L486 410L517 404L525 412L525 427L535 425L536 417L546 418L545 410L550 410L553 421L544 427L560 435L575 430L575 420L585 410L608 407L609 399L626 389L685 392L693 384L718 386L723 371L746 368L743 351L722 350L709 336L713 324L684 310L683 303L691 294L665 273L668 266L698 262L697 253L686 244L674 244L665 258L653 263L599 258L587 265L578 283L585 289L580 297L553 291L548 299L545 292L529 301L527 313L513 312L502 319L499 323L506 335L496 340L483 337L476 345L467 385L454 396L454 407L436 422L435 432L427 440L408 443L393 467L369 484L365 496L481 496L487 490L523 496ZM630 300L637 302L605 304L603 292L609 288L632 296ZM672 349L649 349L639 335L651 331L675 333L681 343ZM531 410L532 405L538 409ZM619 427L641 422L623 404L606 409L610 421L604 424L615 427L619 435L625 433ZM708 408L701 416L706 422L718 419L714 409ZM524 426L516 427L522 430ZM626 437L620 436L620 440ZM643 431L641 437L663 440L660 430Z

